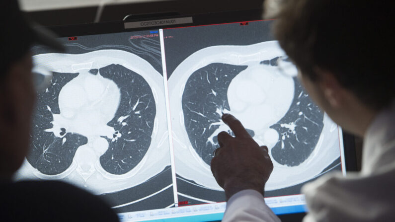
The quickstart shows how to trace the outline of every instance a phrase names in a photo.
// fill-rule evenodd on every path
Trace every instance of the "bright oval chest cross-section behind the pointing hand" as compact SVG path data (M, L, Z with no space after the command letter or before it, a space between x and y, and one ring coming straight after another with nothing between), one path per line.
M294 67L294 75L280 73L277 60L285 56L277 41L212 46L175 69L169 91L178 175L222 190L209 166L218 133L232 134L222 113L235 115L269 148L274 170L266 190L307 181L339 157L331 149L337 125L312 102Z

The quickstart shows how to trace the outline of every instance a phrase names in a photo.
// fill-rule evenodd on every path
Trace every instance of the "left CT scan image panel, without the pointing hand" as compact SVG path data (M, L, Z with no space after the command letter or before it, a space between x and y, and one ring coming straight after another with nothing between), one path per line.
M37 91L17 180L72 183L117 213L174 206L159 37L146 33L64 39L63 54L33 48L53 78Z

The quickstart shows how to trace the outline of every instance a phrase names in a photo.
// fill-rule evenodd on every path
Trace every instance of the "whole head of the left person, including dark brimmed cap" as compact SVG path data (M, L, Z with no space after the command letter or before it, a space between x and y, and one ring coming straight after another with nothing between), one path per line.
M62 46L47 33L33 30L17 0L0 2L0 179L8 179L27 154L35 90L31 74L32 43Z

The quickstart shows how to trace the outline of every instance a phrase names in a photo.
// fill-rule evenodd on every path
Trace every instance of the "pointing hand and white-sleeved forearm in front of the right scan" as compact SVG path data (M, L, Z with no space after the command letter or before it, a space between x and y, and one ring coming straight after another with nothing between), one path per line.
M268 148L259 147L234 116L224 114L222 120L235 134L218 135L220 148L211 161L213 175L228 201L223 221L279 221L263 199L273 170Z

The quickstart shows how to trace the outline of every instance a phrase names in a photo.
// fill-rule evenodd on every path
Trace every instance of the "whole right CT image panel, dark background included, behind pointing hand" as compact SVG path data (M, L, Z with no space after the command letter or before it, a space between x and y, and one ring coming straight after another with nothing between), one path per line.
M300 194L304 183L340 168L339 129L301 86L270 22L163 33L171 36L164 44L179 201L225 201L210 170L218 133L233 135L223 113L269 148L265 197Z

